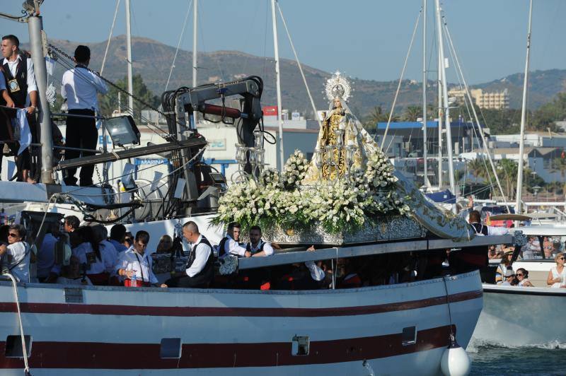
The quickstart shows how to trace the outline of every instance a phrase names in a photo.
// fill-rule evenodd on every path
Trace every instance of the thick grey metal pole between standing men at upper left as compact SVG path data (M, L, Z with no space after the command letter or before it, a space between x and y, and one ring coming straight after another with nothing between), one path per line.
M41 141L41 181L53 184L53 137L51 134L51 111L47 104L47 68L45 67L45 54L43 53L41 32L43 20L40 16L28 18L30 33L31 57L33 60L37 92L39 93L39 124Z

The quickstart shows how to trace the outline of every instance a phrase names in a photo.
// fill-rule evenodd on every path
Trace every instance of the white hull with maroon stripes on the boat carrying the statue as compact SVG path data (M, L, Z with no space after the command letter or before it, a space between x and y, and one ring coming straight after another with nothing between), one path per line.
M478 272L352 290L80 288L83 303L61 286L18 288L33 375L436 375L449 344L445 288L462 346L483 304ZM23 369L4 356L19 335L13 302L0 283L2 375ZM403 345L407 327L416 342ZM291 355L294 336L309 337L308 355ZM160 357L164 338L180 338L180 358Z

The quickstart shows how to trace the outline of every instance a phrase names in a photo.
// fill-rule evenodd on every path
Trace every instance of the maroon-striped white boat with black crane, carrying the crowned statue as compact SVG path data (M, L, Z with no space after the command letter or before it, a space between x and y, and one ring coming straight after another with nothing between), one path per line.
M28 18L40 25L38 9L32 8ZM37 54L37 49L33 53ZM459 348L462 356L460 346L465 348L470 341L483 307L478 267L487 255L482 250L491 242L520 247L523 237L520 233L475 237L461 218L424 199L417 187L393 171L347 107L350 83L339 73L326 86L330 108L318 143L325 146L324 150L318 148L311 161L300 153L293 155L284 172L262 170L263 135L258 128L261 88L261 79L252 76L163 93L171 141L63 160L42 177L49 180L53 171L79 165L172 153L178 164L167 176L168 196L163 201L173 215L130 228L171 230L173 226L179 230L183 223L195 221L202 223L203 233L213 241L219 237L218 230L205 224L212 219L221 226L243 212L241 206L229 206L226 199L233 197L236 189L255 189L266 195L277 192L287 194L287 198L304 194L311 204L320 207L325 204L316 201L321 194L352 189L363 197L364 209L371 208L371 215L363 210L342 210L329 217L330 210L321 213L319 221L311 218L308 223L297 224L299 220L284 221L291 217L283 217L304 209L294 210L290 205L285 214L265 217L273 221L265 233L282 246L281 250L271 257L226 257L217 265L218 276L238 276L249 269L327 261L328 273L333 275L330 284L316 290L243 290L215 280L214 286L202 289L131 288L17 283L8 274L0 281L2 375L20 375L22 370L33 370L35 375L451 373L454 357L450 354ZM40 98L45 102L41 91ZM243 106L236 109L209 102L229 95L241 95ZM48 110L45 112L49 117ZM205 187L196 184L204 175L196 164L190 164L206 146L193 122L197 112L215 114L222 122L238 120L241 129L236 155L241 167L240 185L229 187L218 202L203 201L221 188L214 182ZM50 129L42 127L42 132ZM291 179L289 173L295 171L301 179ZM272 184L266 176L286 180ZM355 191L359 188L356 184L362 184L358 182L369 188L362 193ZM97 198L100 187L4 183L2 188L11 201L49 205L59 200L81 211L132 208L135 204L105 202ZM127 192L134 189L127 187ZM253 200L251 196L248 201ZM331 205L347 201L329 200ZM195 205L197 202L202 205ZM203 206L205 202L209 206ZM210 211L216 208L211 216ZM266 206L265 211L269 210ZM47 223L59 223L62 218L60 213L48 211L21 213L21 221L35 235L35 242L41 242ZM299 213L301 218L312 215ZM254 218L242 218L244 227L255 223ZM344 228L337 230L333 218L341 218ZM316 251L306 249L311 244L316 245ZM447 273L427 269L439 256L451 260ZM338 288L335 267L340 260L371 261L385 274L378 281ZM412 263L418 260L422 269L416 272ZM180 262L183 267L183 257ZM462 362L469 370L469 360Z

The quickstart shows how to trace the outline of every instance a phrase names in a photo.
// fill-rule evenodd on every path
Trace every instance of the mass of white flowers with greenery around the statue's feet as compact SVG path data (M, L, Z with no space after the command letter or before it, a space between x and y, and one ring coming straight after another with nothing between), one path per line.
M307 170L303 153L295 151L282 174L265 170L257 182L250 178L232 185L219 200L213 223L308 229L319 222L328 233L340 233L386 213L410 211L395 189L393 165L381 152L368 155L364 169L332 182L302 185Z

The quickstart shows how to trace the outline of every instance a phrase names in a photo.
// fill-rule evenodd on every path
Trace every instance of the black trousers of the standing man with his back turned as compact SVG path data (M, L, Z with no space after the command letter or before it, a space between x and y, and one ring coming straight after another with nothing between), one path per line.
M94 116L93 110L69 110L69 114L79 114ZM67 134L65 135L65 146L70 148L85 148L94 150L98 143L98 130L96 129L96 119L88 117L68 117ZM65 159L74 159L81 156L94 155L89 151L65 150ZM93 184L94 165L84 165L81 167L81 187L88 187ZM67 185L76 185L76 168L67 168L64 172L64 182Z

